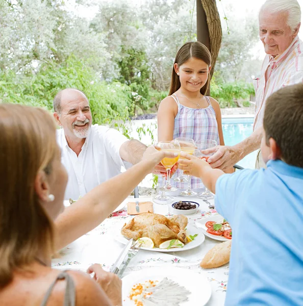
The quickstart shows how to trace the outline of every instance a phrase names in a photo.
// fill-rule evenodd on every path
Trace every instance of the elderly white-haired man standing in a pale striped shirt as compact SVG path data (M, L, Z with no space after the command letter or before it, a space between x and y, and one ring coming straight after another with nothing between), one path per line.
M297 36L300 20L301 10L297 0L267 0L261 7L259 31L267 55L260 78L254 80L254 132L234 146L217 146L206 150L206 154L213 154L208 159L213 168L225 170L257 149L256 168L266 167L260 154L266 99L282 87L303 82L303 43Z

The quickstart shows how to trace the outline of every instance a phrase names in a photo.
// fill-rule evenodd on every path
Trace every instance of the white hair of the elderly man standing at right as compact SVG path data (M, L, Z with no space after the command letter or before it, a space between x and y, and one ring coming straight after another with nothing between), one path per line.
M261 7L260 13L269 11L270 13L288 13L287 24L294 30L301 22L301 8L297 0L267 0Z

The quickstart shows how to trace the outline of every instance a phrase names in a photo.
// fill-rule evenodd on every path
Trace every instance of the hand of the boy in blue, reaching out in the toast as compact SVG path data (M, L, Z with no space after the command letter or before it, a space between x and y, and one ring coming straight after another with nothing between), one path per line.
M186 175L201 177L205 169L211 168L205 159L199 159L184 152L181 152L181 156L186 159L179 161L179 169L183 170Z

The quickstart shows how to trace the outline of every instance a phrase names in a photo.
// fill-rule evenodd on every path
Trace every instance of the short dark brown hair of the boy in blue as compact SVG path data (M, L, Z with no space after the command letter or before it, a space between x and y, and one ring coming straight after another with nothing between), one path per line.
M266 143L273 138L289 165L303 168L303 84L284 87L266 101Z

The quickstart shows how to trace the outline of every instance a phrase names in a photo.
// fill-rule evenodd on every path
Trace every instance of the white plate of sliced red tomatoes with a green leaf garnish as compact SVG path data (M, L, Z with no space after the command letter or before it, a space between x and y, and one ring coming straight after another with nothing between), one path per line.
M205 236L215 240L228 241L233 236L233 231L228 221L224 220L220 215L196 221L196 226L201 228Z

